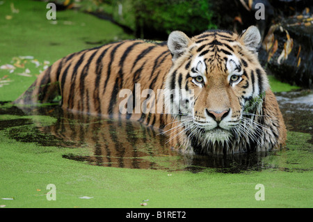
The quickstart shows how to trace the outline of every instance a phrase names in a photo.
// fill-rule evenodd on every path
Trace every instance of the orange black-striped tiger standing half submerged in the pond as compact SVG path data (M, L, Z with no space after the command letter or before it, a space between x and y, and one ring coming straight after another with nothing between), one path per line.
M59 59L14 103L61 96L65 110L159 129L182 153L280 150L287 129L258 59L260 42L256 26L113 42Z

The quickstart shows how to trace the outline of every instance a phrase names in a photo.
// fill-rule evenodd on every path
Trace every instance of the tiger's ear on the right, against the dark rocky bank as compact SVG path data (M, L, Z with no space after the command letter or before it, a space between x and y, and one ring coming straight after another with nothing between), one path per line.
M250 26L248 29L244 30L240 38L252 53L257 54L259 43L261 42L261 34L256 26Z

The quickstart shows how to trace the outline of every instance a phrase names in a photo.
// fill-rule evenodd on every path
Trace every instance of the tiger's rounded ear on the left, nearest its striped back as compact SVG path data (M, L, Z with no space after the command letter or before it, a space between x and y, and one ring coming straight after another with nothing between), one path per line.
M172 31L168 36L168 49L172 54L172 61L174 62L179 56L184 54L186 48L191 44L191 39L182 31Z

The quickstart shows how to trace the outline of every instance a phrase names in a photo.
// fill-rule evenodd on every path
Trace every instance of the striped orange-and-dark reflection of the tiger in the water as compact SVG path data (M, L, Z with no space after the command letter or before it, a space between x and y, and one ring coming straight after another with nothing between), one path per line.
M20 108L21 109L21 108ZM172 150L168 137L159 129L131 120L111 120L98 116L65 111L58 106L42 106L35 110L22 108L28 115L56 118L52 125L35 122L40 133L52 134L57 146L83 148L88 154L63 154L64 158L86 161L96 166L118 168L166 169L169 171L203 171L216 168L225 173L261 170L267 152L223 156L188 155ZM87 153L84 152L84 153Z

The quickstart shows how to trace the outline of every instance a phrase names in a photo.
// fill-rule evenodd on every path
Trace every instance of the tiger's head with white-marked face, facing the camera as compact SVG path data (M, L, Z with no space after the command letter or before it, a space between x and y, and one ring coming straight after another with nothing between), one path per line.
M170 33L166 109L181 121L189 138L209 145L249 134L244 116L261 109L262 101L255 107L252 101L262 100L269 87L257 58L260 41L256 26L241 35L214 30L188 38L181 31Z

